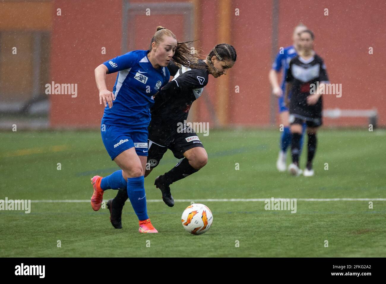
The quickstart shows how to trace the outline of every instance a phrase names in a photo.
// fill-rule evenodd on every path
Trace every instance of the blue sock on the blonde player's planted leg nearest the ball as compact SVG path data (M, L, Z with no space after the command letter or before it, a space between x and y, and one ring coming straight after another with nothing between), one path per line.
M138 220L149 219L146 208L145 177L130 177L127 179L127 195Z

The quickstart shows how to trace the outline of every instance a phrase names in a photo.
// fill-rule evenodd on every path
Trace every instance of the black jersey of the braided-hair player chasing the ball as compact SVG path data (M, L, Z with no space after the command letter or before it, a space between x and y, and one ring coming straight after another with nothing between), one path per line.
M203 60L198 63L206 66ZM209 75L207 68L179 68L172 62L168 69L174 78L154 98L149 124L149 140L162 146L173 141L178 123L187 119L191 104L202 94Z

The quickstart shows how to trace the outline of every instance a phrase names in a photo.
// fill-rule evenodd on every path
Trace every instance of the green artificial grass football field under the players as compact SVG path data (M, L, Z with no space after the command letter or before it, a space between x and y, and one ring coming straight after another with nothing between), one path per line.
M90 200L90 178L117 169L99 132L0 133L0 199L32 200L29 214L0 211L0 257L386 257L384 130L321 130L315 176L307 178L277 172L278 131L211 130L200 138L208 164L171 186L174 207L153 185L177 162L171 153L145 179L159 233L140 234L129 202L121 230L111 226L108 209L94 212L89 201L36 202ZM107 190L105 200L115 193ZM299 199L296 214L266 211L264 201L205 201L271 197ZM370 199L373 209L368 200L302 200L335 198ZM190 201L213 212L203 235L190 235L180 223Z

